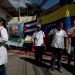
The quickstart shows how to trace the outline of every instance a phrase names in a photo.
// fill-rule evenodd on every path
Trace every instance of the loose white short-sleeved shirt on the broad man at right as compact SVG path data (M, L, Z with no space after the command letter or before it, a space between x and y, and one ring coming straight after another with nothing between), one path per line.
M54 34L51 46L64 49L64 37L67 37L66 32L62 29L60 31L57 29L52 29L50 33Z

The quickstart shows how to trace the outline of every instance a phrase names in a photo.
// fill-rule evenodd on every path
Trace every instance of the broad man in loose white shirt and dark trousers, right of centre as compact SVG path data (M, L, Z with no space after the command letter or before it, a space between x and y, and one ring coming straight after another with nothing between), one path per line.
M55 68L55 60L57 59L57 68L60 72L62 72L61 69L61 55L63 50L66 48L66 42L67 42L67 34L63 30L63 23L58 22L56 25L56 28L52 29L49 33L49 35L53 35L51 47L52 47L52 59L51 59L51 70L54 70ZM66 42L64 41L66 40Z

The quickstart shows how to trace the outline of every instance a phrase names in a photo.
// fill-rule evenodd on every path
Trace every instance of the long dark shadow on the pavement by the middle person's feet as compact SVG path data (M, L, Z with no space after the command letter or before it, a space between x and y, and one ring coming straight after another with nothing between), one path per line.
M33 65L36 65L40 68L40 70L43 72L44 75L53 75L51 72L49 72L48 70L48 65L44 62L37 62L35 61L35 59L32 58L26 58L26 57L20 57L20 59L25 60ZM36 72L36 70L35 70Z

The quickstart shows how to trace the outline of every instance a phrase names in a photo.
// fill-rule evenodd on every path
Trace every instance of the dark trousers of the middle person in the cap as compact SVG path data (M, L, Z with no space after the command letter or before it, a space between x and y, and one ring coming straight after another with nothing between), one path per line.
M36 46L35 47L35 60L40 62L42 60L42 53L43 53L43 46Z

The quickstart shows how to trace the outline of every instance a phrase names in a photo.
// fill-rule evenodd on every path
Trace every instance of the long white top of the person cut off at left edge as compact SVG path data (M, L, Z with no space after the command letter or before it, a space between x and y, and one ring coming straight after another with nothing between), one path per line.
M5 43L8 41L8 34L7 30L3 27L0 26L0 43L3 42ZM0 46L0 65L3 65L7 62L7 49L4 46Z

